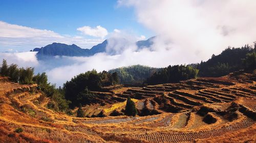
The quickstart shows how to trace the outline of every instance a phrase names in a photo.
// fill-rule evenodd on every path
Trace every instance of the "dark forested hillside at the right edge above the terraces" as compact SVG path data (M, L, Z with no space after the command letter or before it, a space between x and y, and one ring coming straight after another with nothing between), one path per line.
M255 69L255 47L245 45L241 48L226 48L219 55L212 54L206 62L194 64L199 69L201 77L219 77L227 75L230 72L245 69L249 72ZM250 64L249 64L249 63Z

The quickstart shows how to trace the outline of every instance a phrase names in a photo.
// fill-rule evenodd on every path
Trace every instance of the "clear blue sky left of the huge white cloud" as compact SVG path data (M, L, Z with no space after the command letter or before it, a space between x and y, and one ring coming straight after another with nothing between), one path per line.
M96 27L97 25L100 25L109 33L113 32L114 29L118 29L129 31L137 36L143 35L146 38L154 36L151 31L147 30L142 24L137 22L132 7L120 7L118 6L117 1L111 0L1 1L0 21L8 24L32 27L39 30L53 31L62 36L82 36L87 39L95 39L95 37L81 35L81 32L77 31L77 28L82 26ZM0 39L0 42L1 41L5 42L6 39ZM46 42L44 44L46 44ZM40 45L37 42L37 44L31 44L31 48L32 46L45 46L44 44ZM74 44L79 45L79 42ZM91 45L83 46L80 44L82 48L90 48ZM15 46L19 48L15 48ZM23 46L25 46L25 44ZM27 48L23 48L23 46L17 44L11 46L0 43L0 48L2 48L0 51L9 50L10 48L19 49L19 51L27 50Z

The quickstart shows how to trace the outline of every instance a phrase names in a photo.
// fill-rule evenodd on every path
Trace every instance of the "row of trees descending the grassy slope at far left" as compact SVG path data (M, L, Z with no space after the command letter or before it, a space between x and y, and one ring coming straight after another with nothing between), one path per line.
M37 89L41 90L44 95L52 99L48 103L48 107L57 111L68 111L70 101L65 99L61 88L56 89L55 84L48 82L46 73L38 73L34 75L34 68L18 68L18 65L7 65L7 61L3 60L0 70L1 76L7 76L12 82L20 84L37 84Z

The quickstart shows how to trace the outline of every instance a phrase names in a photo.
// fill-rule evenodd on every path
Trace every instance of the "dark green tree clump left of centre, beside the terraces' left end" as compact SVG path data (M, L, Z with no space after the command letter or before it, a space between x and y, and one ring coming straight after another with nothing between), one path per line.
M91 91L101 91L102 87L115 85L119 83L116 72L108 73L106 71L97 72L96 70L81 73L70 81L63 84L63 91L67 100L71 101L70 107L76 107L79 104L90 104L97 95Z

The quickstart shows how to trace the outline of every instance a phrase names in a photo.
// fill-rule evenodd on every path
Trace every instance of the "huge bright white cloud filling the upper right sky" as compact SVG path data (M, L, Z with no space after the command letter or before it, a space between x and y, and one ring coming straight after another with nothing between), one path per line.
M161 37L154 49L180 51L170 61L200 62L229 45L241 47L256 40L253 0L119 0L118 4L134 7L138 21Z

